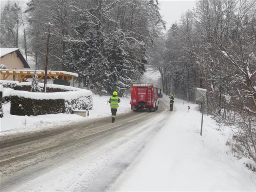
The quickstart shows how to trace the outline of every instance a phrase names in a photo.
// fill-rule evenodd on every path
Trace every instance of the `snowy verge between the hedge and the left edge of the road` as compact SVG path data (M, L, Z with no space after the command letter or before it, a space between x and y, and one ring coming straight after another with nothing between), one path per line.
M5 89L6 90L6 89ZM76 114L48 114L39 116L16 116L10 114L10 102L3 105L4 117L0 118L0 135L44 130L54 126L68 124L74 121L84 121L92 118L111 116L110 96L93 95L93 108L89 116L82 117ZM120 98L118 114L130 111L130 99Z

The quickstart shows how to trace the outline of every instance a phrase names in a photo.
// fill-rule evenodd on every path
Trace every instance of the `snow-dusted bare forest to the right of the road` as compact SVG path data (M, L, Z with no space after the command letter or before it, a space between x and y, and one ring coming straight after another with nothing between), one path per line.
M163 91L192 102L206 89L206 113L235 130L232 151L256 162L256 1L198 0L150 51Z

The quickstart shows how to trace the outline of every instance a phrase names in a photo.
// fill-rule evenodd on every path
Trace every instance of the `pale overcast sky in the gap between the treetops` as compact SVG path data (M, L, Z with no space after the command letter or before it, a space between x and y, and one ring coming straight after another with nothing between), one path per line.
M166 30L169 30L172 23L179 22L180 16L188 9L192 10L196 6L195 0L158 0L160 14L166 23Z

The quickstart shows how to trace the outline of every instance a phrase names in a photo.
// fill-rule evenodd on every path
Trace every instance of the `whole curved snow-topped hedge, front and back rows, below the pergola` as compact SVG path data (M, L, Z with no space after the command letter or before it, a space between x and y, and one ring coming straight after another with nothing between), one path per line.
M71 113L72 110L92 108L92 92L64 85L47 84L47 93L29 92L30 82L3 81L11 92L12 115L42 115ZM44 84L40 83L40 86ZM24 90L21 90L24 89Z

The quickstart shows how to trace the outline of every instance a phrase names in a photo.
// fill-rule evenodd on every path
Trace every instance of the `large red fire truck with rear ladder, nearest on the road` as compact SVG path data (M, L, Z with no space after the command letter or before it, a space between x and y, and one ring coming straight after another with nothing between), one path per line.
M148 108L155 112L158 110L158 87L154 84L132 84L130 104L133 111Z

